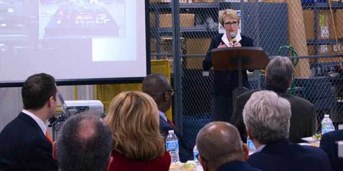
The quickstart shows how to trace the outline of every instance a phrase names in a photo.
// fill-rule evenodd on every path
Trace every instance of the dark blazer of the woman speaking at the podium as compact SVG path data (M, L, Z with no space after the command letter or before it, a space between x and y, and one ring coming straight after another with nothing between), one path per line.
M224 44L221 40L223 34L220 34L217 37L213 37L210 48L206 53L206 57L204 61L202 61L202 69L207 71L212 67L212 59L211 59L211 50L217 48L220 43ZM254 46L253 41L251 38L241 35L242 40L240 41L242 46ZM242 79L243 79L243 86L249 89L248 84L248 77L246 74L246 70L242 71ZM229 70L220 70L214 71L212 86L211 86L211 94L219 94L219 95L232 95L232 91L238 87L238 71L229 71Z

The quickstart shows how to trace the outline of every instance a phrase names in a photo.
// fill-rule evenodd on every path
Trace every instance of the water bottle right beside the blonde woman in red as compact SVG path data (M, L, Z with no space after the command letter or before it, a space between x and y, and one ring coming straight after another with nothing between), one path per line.
M166 138L166 146L167 151L172 157L172 163L180 162L179 158L179 142L177 140L176 135L174 134L174 130L168 131L168 136Z

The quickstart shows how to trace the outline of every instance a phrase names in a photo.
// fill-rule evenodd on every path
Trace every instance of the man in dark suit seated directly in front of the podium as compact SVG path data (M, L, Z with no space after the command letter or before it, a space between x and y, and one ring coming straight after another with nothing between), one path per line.
M292 117L290 136L292 143L303 142L301 138L312 136L315 133L316 110L309 101L300 97L287 94L287 89L293 80L294 67L287 57L277 56L270 61L266 68L265 90L271 90L291 103ZM252 93L259 91L248 91L236 99L236 105L230 123L233 124L241 134L243 142L246 142L246 130L243 122L243 108Z

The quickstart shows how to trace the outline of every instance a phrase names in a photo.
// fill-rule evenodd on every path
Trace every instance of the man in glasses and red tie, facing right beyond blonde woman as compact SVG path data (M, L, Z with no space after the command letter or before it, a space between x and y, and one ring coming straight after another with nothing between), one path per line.
M175 90L172 89L168 79L158 73L147 75L142 84L142 91L150 95L157 104L160 114L160 131L164 138L167 138L168 130L174 130L174 134L179 141L179 157L181 162L194 160L193 146L189 145L181 134L176 130L172 121L166 116L165 112L172 105L172 95Z

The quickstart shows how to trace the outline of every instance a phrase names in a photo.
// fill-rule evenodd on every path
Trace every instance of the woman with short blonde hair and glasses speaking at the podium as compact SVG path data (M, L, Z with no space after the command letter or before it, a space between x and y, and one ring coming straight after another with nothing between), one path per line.
M205 60L202 62L203 70L212 67L211 50L223 47L253 46L251 38L243 36L238 32L240 17L232 9L221 11L219 22L225 29L224 34L213 37ZM236 39L236 41L235 41ZM243 86L249 88L246 70L242 71ZM215 70L211 87L211 120L230 122L232 107L232 91L238 87L238 71Z

